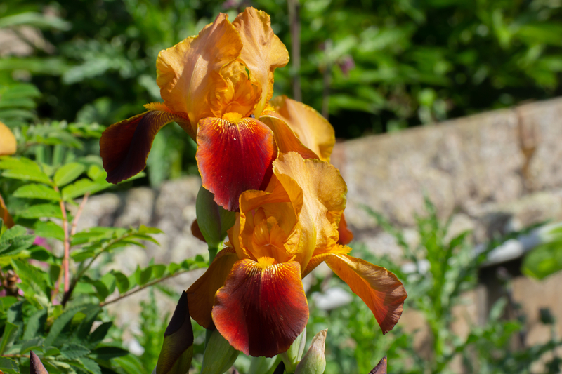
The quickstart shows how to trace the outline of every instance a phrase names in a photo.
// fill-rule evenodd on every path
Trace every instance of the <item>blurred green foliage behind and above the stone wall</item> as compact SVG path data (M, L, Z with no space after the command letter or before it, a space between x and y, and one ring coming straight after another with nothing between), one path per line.
M291 53L275 94L301 96L329 115L337 138L562 94L558 0L8 0L0 5L0 85L37 86L39 119L108 126L160 99L160 50L218 12L232 20L246 6L271 15ZM167 126L144 183L196 173L194 152L178 126ZM151 170L156 163L168 166Z

